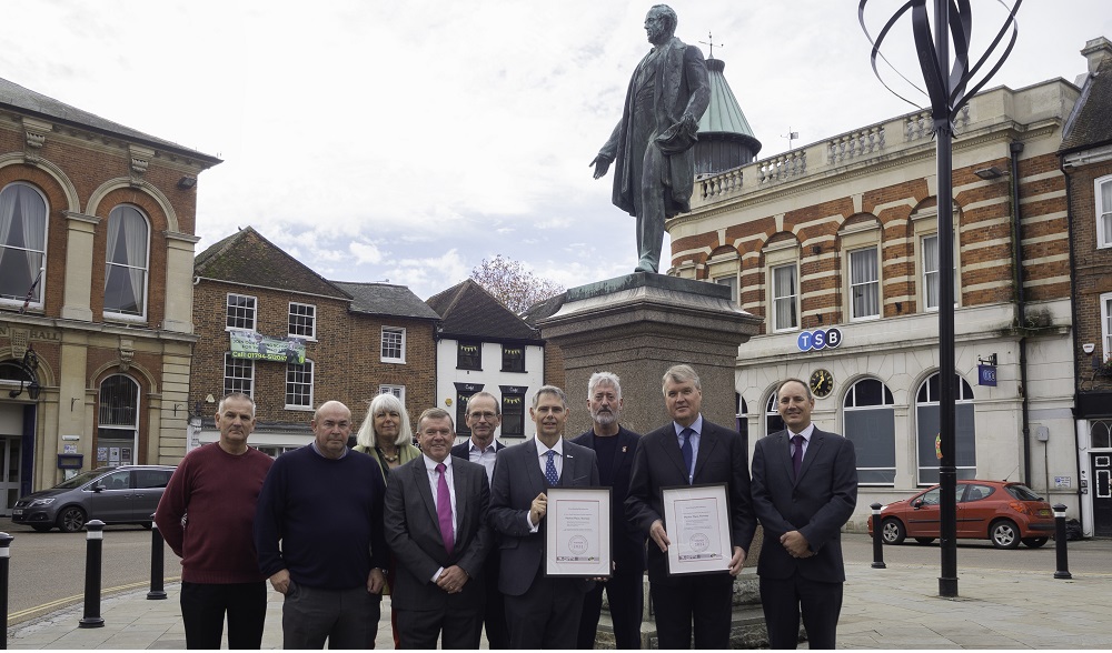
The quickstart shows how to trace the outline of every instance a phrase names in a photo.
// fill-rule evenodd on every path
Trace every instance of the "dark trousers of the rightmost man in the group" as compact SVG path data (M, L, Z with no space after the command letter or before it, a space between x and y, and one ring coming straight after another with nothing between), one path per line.
M802 613L807 647L833 650L842 613L842 583L808 581L798 573L790 579L761 576L761 607L768 626L770 649L798 646Z

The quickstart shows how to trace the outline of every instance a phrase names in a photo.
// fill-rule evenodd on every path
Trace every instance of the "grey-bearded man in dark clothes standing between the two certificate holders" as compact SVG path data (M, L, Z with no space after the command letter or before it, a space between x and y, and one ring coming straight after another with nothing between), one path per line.
M641 649L644 605L645 538L623 516L629 494L633 454L641 435L622 426L622 384L613 372L595 372L587 381L587 410L594 425L572 442L592 449L598 458L598 478L610 490L610 553L614 573L587 592L579 619L577 649L594 649L603 590L609 604L616 649Z

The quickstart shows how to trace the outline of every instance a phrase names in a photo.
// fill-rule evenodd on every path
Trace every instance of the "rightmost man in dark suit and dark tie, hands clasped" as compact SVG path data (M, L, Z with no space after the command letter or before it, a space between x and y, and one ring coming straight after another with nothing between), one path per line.
M776 390L786 429L757 440L753 509L764 526L757 574L773 649L795 649L800 613L810 649L834 649L842 612L842 525L857 504L853 442L811 422L807 384L788 379Z

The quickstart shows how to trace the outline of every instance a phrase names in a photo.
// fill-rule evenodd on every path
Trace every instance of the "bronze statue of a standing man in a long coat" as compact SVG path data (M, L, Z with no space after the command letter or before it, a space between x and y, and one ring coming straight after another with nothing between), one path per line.
M629 81L622 121L590 162L595 179L614 167L614 205L637 219L636 272L657 272L664 220L691 210L698 120L711 101L703 53L675 38L676 12L645 17L653 49Z

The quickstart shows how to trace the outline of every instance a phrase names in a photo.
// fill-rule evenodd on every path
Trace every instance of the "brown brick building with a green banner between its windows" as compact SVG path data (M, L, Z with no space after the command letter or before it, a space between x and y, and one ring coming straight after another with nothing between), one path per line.
M271 455L311 440L325 401L347 404L356 428L381 392L399 396L413 420L434 405L439 317L408 288L328 281L250 227L201 252L193 273L191 446L219 438L216 402L232 391L255 399L251 444ZM275 353L237 358L236 334L265 336ZM286 355L291 340L304 358Z

